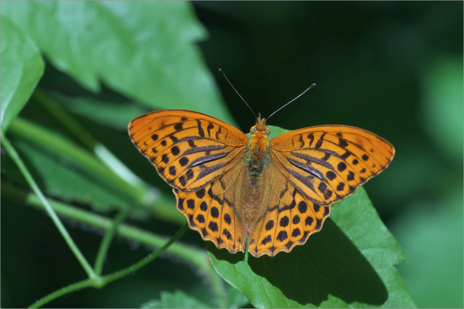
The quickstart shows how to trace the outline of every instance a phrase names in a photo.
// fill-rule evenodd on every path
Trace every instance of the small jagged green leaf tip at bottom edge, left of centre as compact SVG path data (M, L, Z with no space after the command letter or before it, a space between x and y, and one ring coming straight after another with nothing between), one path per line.
M162 291L160 296L161 299L143 303L141 308L209 308L205 303L181 290L176 290L174 293Z

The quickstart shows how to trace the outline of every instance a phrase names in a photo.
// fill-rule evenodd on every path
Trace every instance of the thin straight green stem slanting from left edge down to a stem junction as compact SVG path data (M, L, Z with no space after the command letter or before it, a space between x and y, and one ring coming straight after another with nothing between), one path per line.
M85 259L84 255L82 252L79 250L79 248L76 246L74 243L74 240L72 240L71 236L69 235L68 231L64 227L63 223L59 220L57 214L53 210L52 206L50 206L50 203L45 199L45 196L43 195L42 191L39 189L39 186L35 182L34 178L32 178L32 175L29 173L29 170L27 170L26 165L24 165L24 162L21 160L19 157L18 152L14 149L13 145L10 144L8 139L6 139L5 135L3 132L0 133L1 137L1 145L3 145L10 155L10 157L13 159L14 163L18 166L19 170L23 174L24 178L26 178L27 183L29 186L32 188L34 193L39 197L40 202L43 204L46 212L52 218L53 223L55 223L55 226L58 228L58 231L61 233L63 236L64 240L70 247L71 251L74 253L76 256L77 260L79 263L82 265L84 268L84 271L87 273L87 276L89 278L95 278L96 274L93 271L92 267L90 266L89 262Z

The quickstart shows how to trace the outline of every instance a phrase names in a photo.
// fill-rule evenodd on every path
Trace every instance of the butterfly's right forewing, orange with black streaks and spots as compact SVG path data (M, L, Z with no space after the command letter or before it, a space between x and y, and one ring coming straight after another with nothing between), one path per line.
M313 126L272 139L284 175L319 205L338 202L385 170L394 148L372 132L352 126Z

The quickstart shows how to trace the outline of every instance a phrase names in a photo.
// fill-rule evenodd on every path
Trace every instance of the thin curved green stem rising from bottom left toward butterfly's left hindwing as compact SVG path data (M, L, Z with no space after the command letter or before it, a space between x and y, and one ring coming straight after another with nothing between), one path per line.
M110 282L113 282L117 279L125 277L131 274L132 272L141 269L143 266L147 265L148 263L156 259L162 252L166 251L166 249L169 246L171 246L171 244L174 241L178 240L187 230L188 230L188 224L186 223L183 227L180 228L180 230L177 233L175 233L175 235L166 244L164 244L164 246L162 246L155 252L148 254L148 256L146 256L144 259L140 260L139 262L127 268L124 268L121 271L116 271L110 275L106 275L103 277L98 276L92 279L85 279L85 280L76 282L74 284L70 284L64 288L58 289L48 294L47 296L39 299L37 302L29 306L29 308L39 308L45 305L46 303L51 302L52 300L60 296L63 296L67 293L70 293L72 291L81 290L81 289L88 288L88 287L94 287L96 289L103 288L103 286L105 286L106 284L109 284Z

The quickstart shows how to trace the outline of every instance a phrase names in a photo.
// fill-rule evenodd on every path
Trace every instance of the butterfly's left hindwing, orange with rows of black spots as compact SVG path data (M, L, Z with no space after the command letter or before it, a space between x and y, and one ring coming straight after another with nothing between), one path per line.
M244 186L248 171L242 158L224 175L196 192L174 189L177 208L185 214L190 228L197 230L203 240L211 240L219 249L245 252L246 229L244 215Z

